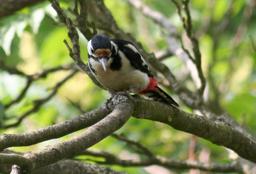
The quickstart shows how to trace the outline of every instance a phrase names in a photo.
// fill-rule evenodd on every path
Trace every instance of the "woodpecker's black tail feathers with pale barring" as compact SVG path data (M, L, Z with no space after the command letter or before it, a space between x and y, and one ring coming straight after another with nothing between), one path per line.
M160 87L156 86L157 90L153 91L144 91L143 93L148 97L149 100L154 100L158 102L163 102L166 104L171 104L179 107L178 103L176 103L172 97L170 97L166 92L164 92Z

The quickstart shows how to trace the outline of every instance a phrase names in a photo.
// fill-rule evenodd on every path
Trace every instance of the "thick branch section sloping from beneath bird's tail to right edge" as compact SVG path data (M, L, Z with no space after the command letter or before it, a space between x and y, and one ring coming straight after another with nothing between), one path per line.
M139 106L132 116L153 121L159 121L172 126L174 129L194 134L209 140L219 146L234 150L241 157L256 163L256 143L242 133L232 129L229 125L219 124L205 117L189 114L174 106L167 106L159 102L137 99ZM147 107L147 110L143 109ZM154 109L154 108L157 108ZM161 117L159 117L159 110Z

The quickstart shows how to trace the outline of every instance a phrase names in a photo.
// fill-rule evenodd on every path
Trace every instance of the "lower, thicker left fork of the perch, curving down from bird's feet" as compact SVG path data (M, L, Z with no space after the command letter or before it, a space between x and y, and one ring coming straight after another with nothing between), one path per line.
M24 157L29 159L33 165L31 167L26 166L23 169L31 172L50 165L61 159L76 155L106 138L121 128L131 117L133 105L127 101L128 99L123 95L118 100L113 100L115 104L112 105L112 112L98 123L90 126L83 133L52 146L46 146L42 150L25 153Z

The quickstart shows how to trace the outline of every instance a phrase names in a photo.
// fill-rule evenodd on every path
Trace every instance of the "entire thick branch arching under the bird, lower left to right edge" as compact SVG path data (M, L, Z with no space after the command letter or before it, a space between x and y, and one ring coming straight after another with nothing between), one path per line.
M108 103L109 108L114 108L113 111L100 122L69 140L56 143L37 152L26 153L24 157L33 163L30 170L76 155L80 151L89 148L120 128L131 114L136 118L159 121L177 130L195 134L214 144L230 148L241 157L256 162L256 143L230 128L229 125L215 123L161 102L145 100L138 96L133 96L133 98L119 94L114 95L112 98L114 104ZM145 107L147 107L147 110L145 110Z

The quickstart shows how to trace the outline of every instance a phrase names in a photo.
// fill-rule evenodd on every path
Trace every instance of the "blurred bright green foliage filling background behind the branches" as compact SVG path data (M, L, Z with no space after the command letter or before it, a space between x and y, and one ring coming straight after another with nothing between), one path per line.
M70 18L75 19L67 10L68 7L73 6L73 2L68 0L60 2ZM133 34L148 52L156 53L167 47L161 29L153 20L143 16L126 1L105 0L104 2L117 24L125 32ZM177 26L180 34L184 35L179 16L171 1L144 0L143 2L163 13ZM202 68L210 84L209 100L217 100L223 110L256 135L256 54L249 39L251 35L256 42L255 8L252 9L249 19L244 15L250 7L250 2L249 0L193 0L190 8L202 53ZM90 16L89 20L93 18ZM68 40L67 27L59 22L49 2L24 8L12 16L1 19L0 26L0 56L6 66L15 67L26 74L34 74L45 68L73 63L63 43L64 39ZM70 43L69 40L68 42ZM185 37L184 42L186 42ZM83 36L80 37L80 47L81 57L86 62L87 41ZM189 43L186 43L186 47L190 51ZM181 60L172 56L163 62L184 86L192 91L196 90ZM12 123L15 120L12 116L20 116L29 110L33 106L33 100L44 98L49 93L49 89L66 75L67 71L58 71L33 82L20 102L4 110L3 105L20 94L26 80L22 76L10 75L0 69L1 124ZM176 96L173 97L180 103ZM57 95L36 113L25 118L18 127L1 130L1 134L29 132L80 115L79 110L67 99L79 103L84 111L90 111L101 106L106 98L108 98L107 91L95 86L84 72L79 72L61 86ZM193 112L181 103L180 105L181 109ZM57 140L13 149L20 152L38 150L80 132L82 130ZM128 138L139 141L155 154L182 160L188 158L191 135L167 125L131 118L117 133L124 133ZM123 158L127 154L128 156L136 154L123 142L112 137L102 140L92 148L99 148ZM195 148L196 159L202 153L202 149L207 148L211 154L210 161L229 161L228 153L222 147L206 140L198 138ZM119 166L113 168L130 173L148 173L143 168Z

